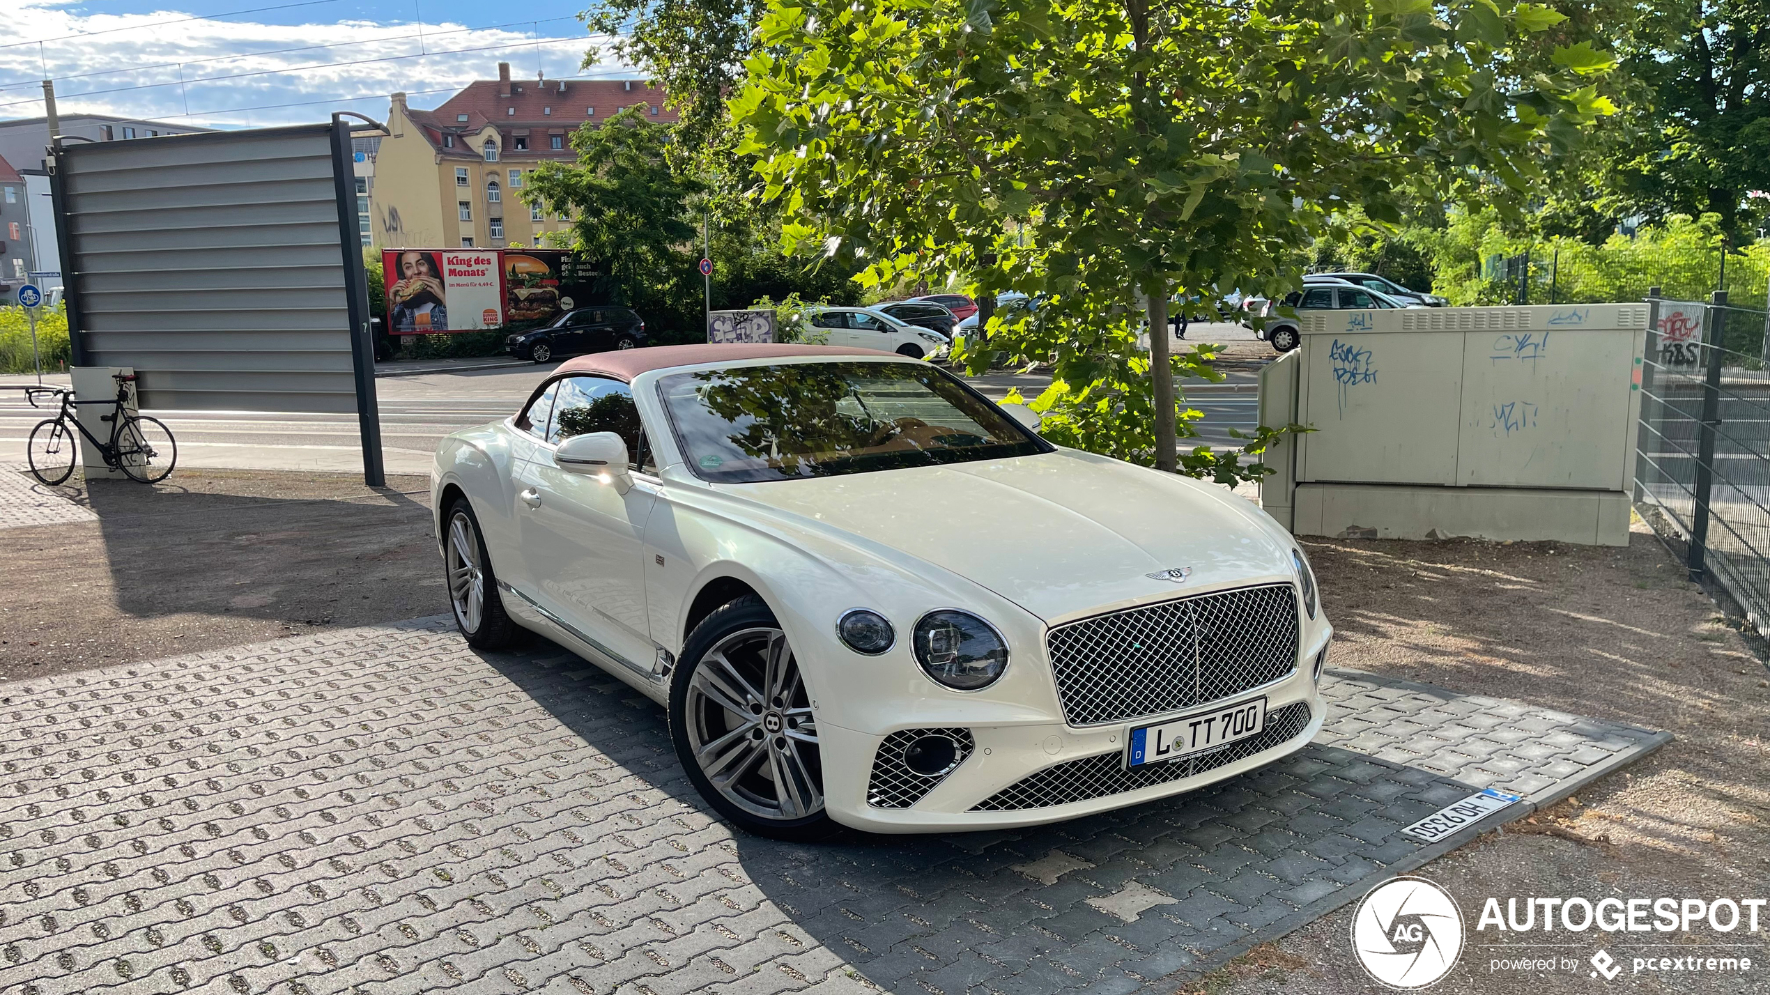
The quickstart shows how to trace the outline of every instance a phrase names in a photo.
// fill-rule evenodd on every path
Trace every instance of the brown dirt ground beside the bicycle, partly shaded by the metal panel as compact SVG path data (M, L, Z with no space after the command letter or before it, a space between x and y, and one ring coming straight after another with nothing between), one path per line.
M0 680L446 611L430 482L388 483L181 469L60 489L99 519L0 531Z

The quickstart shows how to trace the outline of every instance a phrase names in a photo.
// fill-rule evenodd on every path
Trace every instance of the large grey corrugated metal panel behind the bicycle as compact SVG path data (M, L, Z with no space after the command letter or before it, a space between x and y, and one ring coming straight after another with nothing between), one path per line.
M142 407L356 411L335 127L64 147L78 361Z

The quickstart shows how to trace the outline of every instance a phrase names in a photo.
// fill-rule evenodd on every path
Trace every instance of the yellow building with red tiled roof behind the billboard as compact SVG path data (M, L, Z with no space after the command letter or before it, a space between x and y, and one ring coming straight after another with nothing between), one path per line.
M522 200L529 174L573 161L572 133L639 104L650 120L676 115L641 80L476 80L435 110L405 94L388 108L389 136L373 156L372 243L382 248L543 244L568 221Z

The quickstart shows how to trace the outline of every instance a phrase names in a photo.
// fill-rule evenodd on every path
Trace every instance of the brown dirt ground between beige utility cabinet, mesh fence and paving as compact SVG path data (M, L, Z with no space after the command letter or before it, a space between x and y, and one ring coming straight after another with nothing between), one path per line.
M1512 935L1572 942L1574 970L1492 970L1524 953L1473 929L1489 896L1770 898L1770 673L1713 602L1646 533L1628 549L1559 544L1310 540L1338 637L1333 662L1579 715L1671 729L1664 749L1579 798L1420 871L1469 922L1460 963L1434 991L1770 991L1765 933ZM1520 908L1522 912L1522 908ZM1352 908L1251 951L1195 988L1212 995L1386 991L1358 967ZM1770 931L1770 915L1763 928ZM1658 949L1630 944L1667 944ZM1635 956L1694 944L1756 961L1749 974L1634 974ZM1623 961L1593 977L1597 949ZM1536 951L1542 953L1542 951ZM1719 956L1713 947L1705 956Z

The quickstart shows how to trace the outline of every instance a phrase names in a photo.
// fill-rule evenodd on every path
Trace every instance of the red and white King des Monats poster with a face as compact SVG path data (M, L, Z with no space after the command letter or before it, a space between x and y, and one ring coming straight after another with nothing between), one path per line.
M388 333L480 331L504 324L499 250L382 250Z

